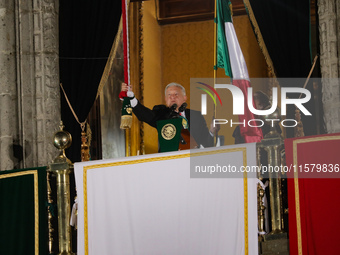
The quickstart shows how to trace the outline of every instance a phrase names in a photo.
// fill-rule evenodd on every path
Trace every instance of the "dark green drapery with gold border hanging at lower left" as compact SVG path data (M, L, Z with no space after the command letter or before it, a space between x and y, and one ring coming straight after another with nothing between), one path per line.
M0 172L0 254L47 254L46 167Z

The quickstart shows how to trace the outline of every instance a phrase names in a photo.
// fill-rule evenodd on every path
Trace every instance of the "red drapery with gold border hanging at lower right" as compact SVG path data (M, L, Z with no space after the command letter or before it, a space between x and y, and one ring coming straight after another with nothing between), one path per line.
M340 254L340 133L285 140L290 254Z

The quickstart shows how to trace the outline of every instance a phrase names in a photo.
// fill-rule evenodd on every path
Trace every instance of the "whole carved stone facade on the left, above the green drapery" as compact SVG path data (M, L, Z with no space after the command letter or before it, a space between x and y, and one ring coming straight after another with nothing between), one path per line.
M0 169L45 166L60 122L58 0L0 0Z

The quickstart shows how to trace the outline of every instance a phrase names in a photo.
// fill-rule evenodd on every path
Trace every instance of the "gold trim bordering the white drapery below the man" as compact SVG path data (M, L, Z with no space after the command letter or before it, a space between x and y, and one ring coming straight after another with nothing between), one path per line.
M153 157L146 159L137 159L131 161L119 161L112 163L104 163L104 164L95 164L84 166L83 168L83 195L84 195L84 248L85 255L89 254L89 244L88 244L88 219L87 219L87 171L90 169L104 168L104 167L112 167L112 166L123 166L123 165L135 165L139 163L146 162L154 162L154 161L163 161L163 160L172 160L179 158L187 158L187 157L195 157L201 155L212 155L219 153L230 153L230 152L242 152L243 156L243 166L247 166L247 148L232 148L232 149L223 149L218 151L204 151L204 152L196 152L196 153L186 153L181 155L173 155L173 156L164 156L164 157ZM244 192L244 245L245 245L245 255L249 253L249 238L248 238L248 180L247 173L243 174L243 192Z

